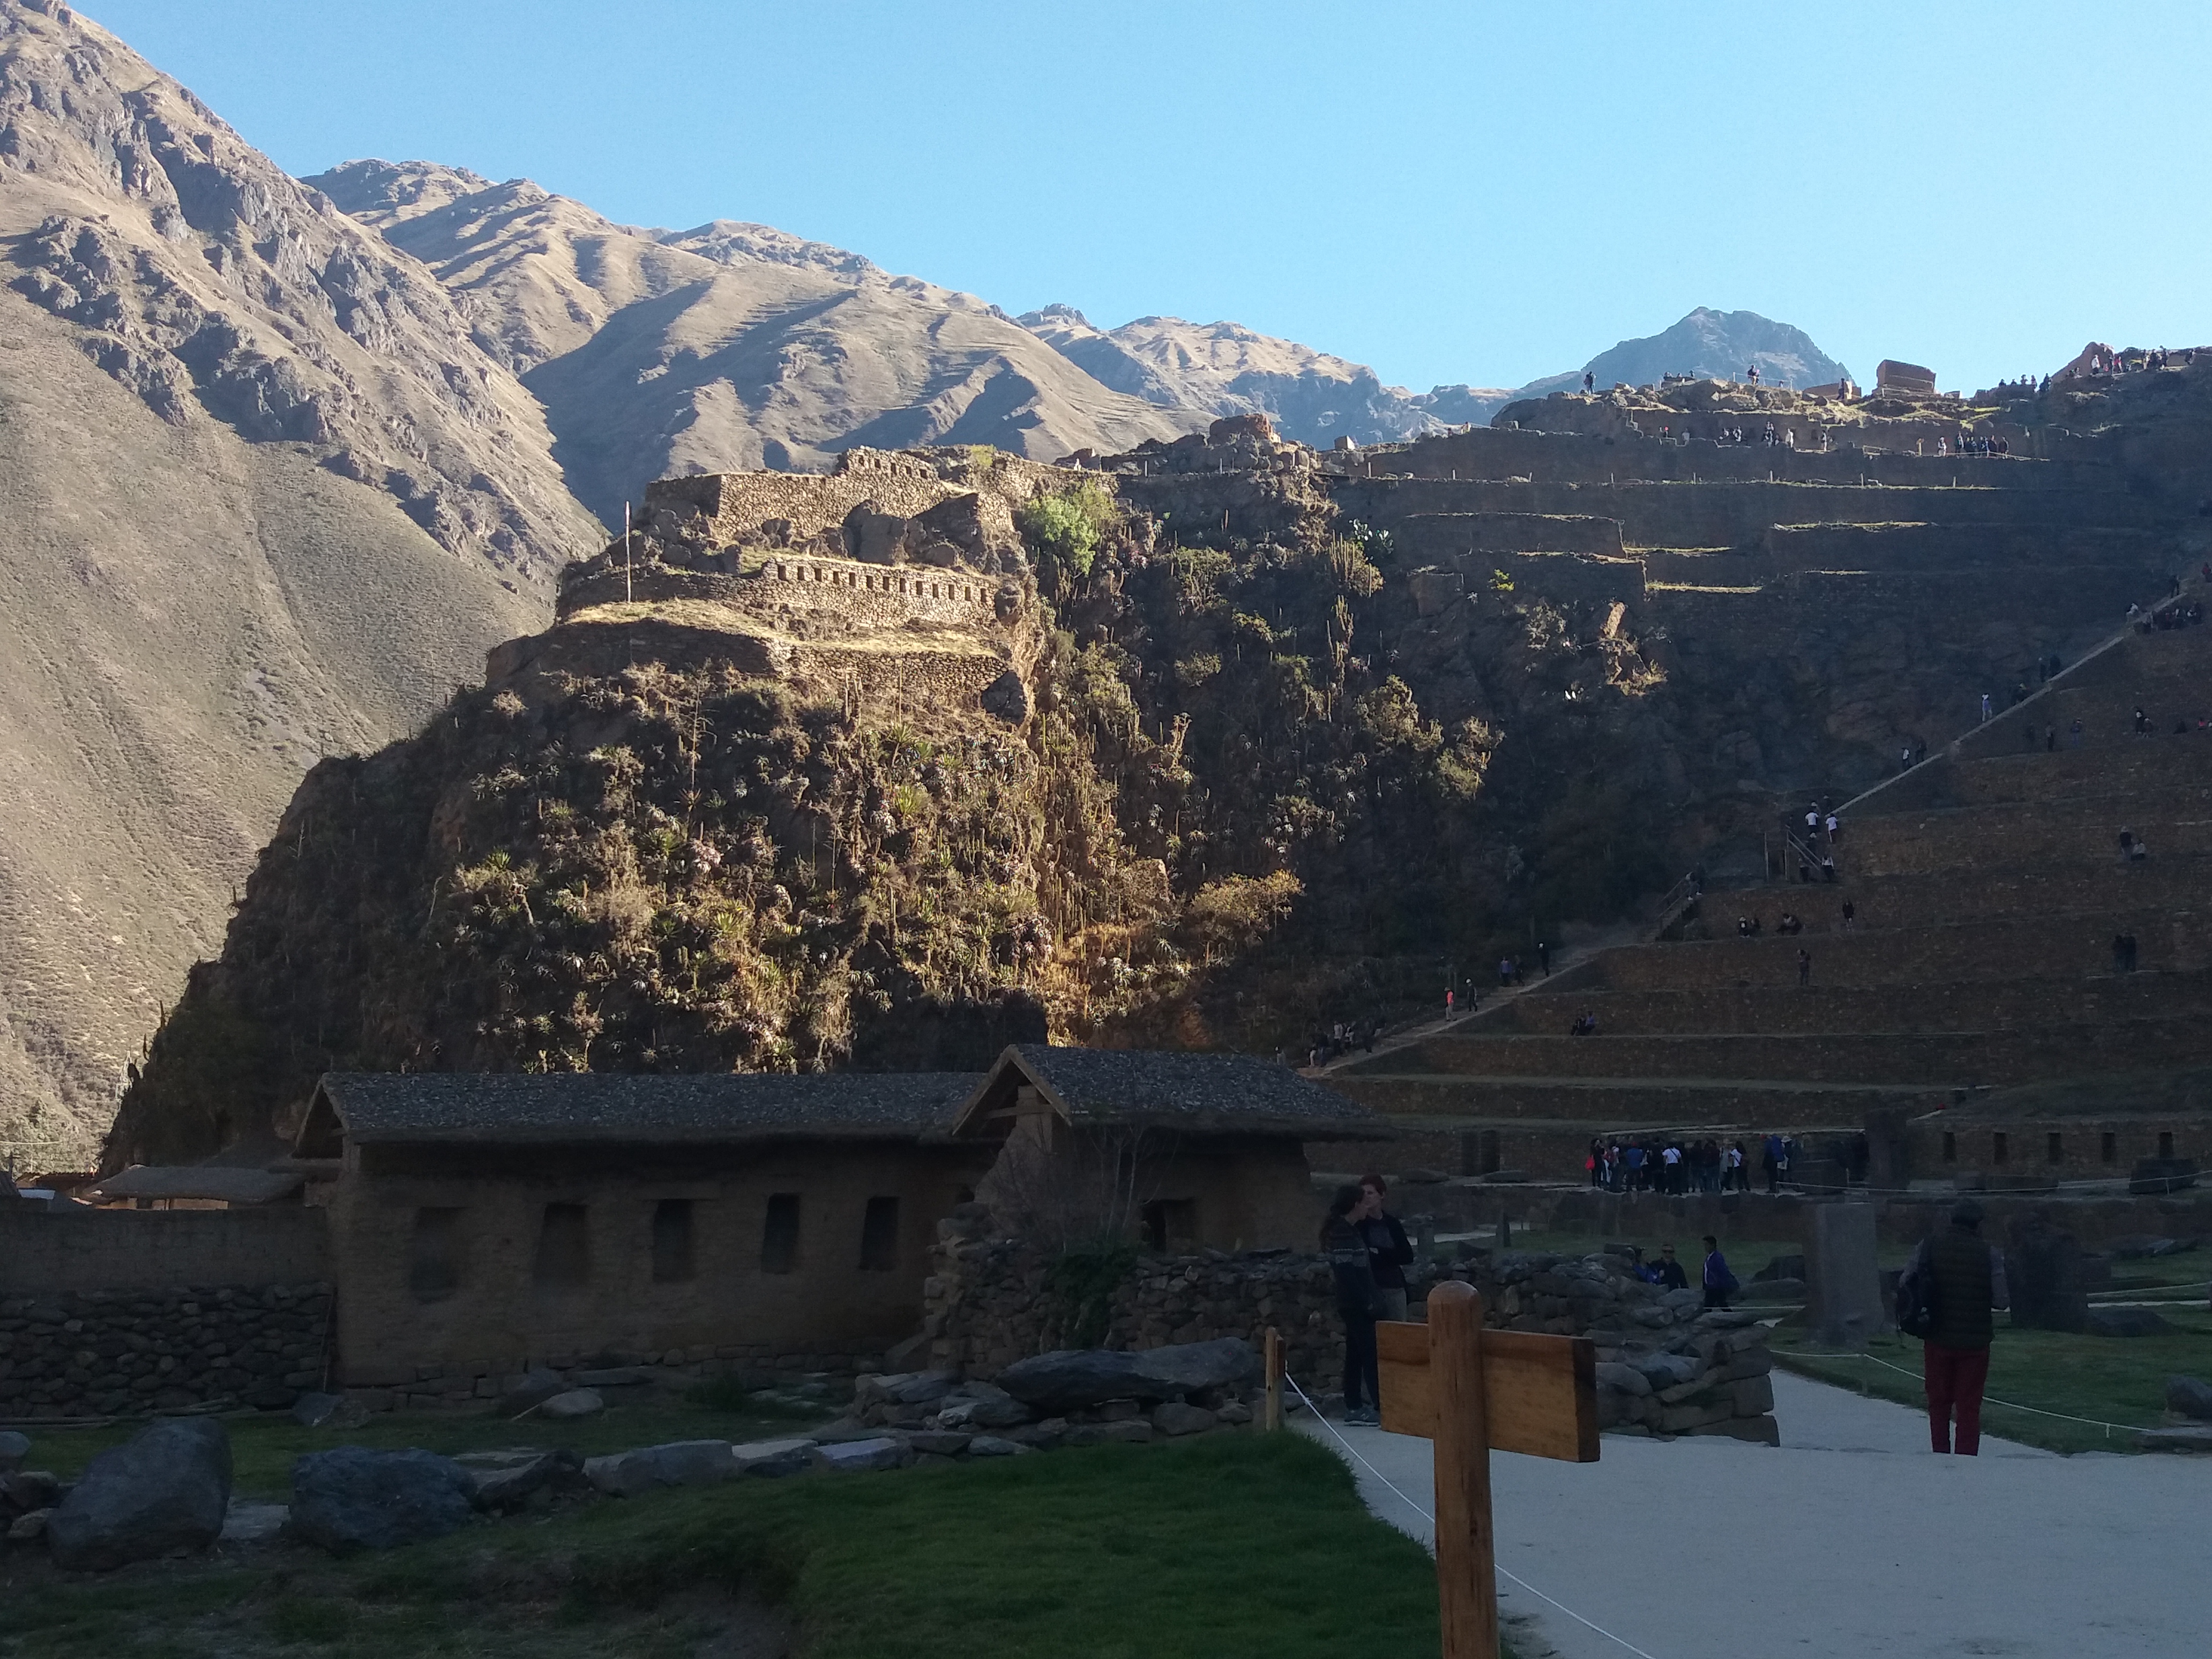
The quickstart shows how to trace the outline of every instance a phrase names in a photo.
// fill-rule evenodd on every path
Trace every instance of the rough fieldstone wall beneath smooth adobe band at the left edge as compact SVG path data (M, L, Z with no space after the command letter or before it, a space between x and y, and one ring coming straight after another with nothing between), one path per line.
M323 1385L332 1287L64 1290L0 1301L0 1418L285 1407Z

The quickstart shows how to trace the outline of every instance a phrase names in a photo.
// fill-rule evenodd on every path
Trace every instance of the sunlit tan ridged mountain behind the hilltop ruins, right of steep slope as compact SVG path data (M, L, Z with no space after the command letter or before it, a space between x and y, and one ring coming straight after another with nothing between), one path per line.
M818 471L843 449L933 442L1053 460L1203 422L1099 385L971 294L768 226L637 230L529 179L425 161L307 184L438 274L611 522L670 473Z

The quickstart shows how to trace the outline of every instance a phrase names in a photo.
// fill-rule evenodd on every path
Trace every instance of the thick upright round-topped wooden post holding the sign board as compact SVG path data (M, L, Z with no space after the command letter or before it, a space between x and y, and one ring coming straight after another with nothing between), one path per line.
M1429 1387L1436 1400L1436 1601L1444 1659L1498 1659L1482 1292L1455 1279L1429 1292Z

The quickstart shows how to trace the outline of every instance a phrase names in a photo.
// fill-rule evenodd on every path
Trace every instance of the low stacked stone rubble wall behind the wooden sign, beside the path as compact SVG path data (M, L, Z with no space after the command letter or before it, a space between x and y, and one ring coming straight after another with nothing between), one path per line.
M1708 1310L1701 1292L1650 1285L1610 1252L1500 1252L1473 1283L1506 1329L1590 1338L1601 1427L1781 1444L1774 1356L1759 1314Z

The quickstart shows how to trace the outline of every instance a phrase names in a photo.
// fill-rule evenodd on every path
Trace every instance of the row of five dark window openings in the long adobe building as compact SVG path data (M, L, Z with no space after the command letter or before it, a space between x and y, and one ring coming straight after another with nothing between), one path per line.
M608 1243L622 1252L641 1250L653 1259L653 1283L679 1285L699 1276L692 1199L659 1199L646 1237L595 1239L591 1206L549 1203L538 1217L538 1245L531 1254L531 1283L540 1290L586 1290L593 1283L595 1256ZM422 1206L416 1210L414 1237L407 1250L407 1290L418 1303L453 1296L467 1279L462 1210ZM801 1194L772 1192L761 1217L761 1272L799 1272L803 1263ZM898 1199L874 1197L860 1217L860 1272L894 1272L898 1267Z

